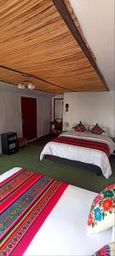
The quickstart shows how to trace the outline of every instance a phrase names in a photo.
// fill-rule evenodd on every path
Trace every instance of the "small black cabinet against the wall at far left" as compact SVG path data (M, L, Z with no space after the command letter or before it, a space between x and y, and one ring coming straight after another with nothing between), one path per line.
M13 154L18 150L17 133L10 131L1 134L3 154Z

